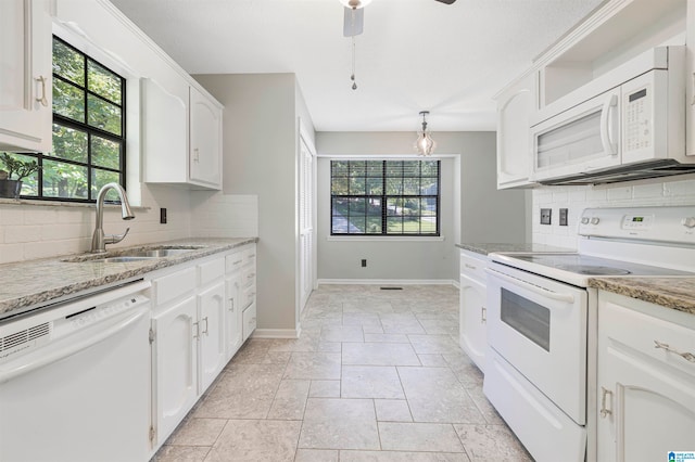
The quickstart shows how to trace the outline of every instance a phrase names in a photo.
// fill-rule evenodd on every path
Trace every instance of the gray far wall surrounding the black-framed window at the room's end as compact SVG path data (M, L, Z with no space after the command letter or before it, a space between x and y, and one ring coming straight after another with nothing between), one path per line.
M437 132L444 241L330 240L329 159L318 165L318 278L458 280L460 242L527 242L526 194L496 190L494 132ZM414 132L317 132L326 155L412 154ZM458 176L460 190L456 190ZM359 260L367 258L367 268Z

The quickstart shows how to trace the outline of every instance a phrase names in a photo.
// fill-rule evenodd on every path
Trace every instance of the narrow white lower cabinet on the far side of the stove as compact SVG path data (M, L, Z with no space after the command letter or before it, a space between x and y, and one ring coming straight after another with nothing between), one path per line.
M483 372L488 348L486 266L485 256L460 252L459 342L462 349Z

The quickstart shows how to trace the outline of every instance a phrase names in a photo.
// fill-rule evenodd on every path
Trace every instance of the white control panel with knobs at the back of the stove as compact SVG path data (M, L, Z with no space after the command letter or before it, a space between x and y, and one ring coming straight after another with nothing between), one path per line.
M578 232L584 238L695 245L695 206L587 208Z

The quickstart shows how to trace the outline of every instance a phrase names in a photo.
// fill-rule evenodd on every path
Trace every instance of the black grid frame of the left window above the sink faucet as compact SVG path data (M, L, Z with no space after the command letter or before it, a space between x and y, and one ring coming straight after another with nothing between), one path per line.
M84 121L79 121L79 120L75 120L72 119L70 117L63 116L61 114L58 114L54 111L54 106L51 108L53 111L53 116L52 116L52 121L51 121L51 126L55 127L61 126L64 128L68 128L68 129L76 129L79 130L81 132L85 132L87 136L87 161L86 162L78 162L78 161L73 161L73 159L67 159L67 158L63 158L63 157L56 157L56 156L52 156L51 153L41 153L41 152L23 152L23 153L13 153L14 155L18 155L18 156L27 156L27 157L33 157L37 161L37 163L39 164L40 168L38 170L37 174L37 195L21 195L22 198L28 198L28 200L38 200L38 201L51 201L51 202L67 202L67 203L94 203L97 202L97 193L98 191L92 191L92 185L93 185L93 177L94 177L94 171L108 171L108 172L112 172L112 174L117 174L119 181L118 183L125 189L126 188L126 141L127 141L127 133L126 133L126 114L127 114L127 107L126 107L126 78L123 77L122 75L119 75L118 73L116 73L115 70L113 70L112 68L110 68L108 65L104 65L103 63L99 62L98 60L91 57L89 54L83 52L81 50L77 49L76 47L70 44L67 41L61 39L58 36L53 36L52 37L54 41L59 41L61 42L63 46L70 48L72 51L74 51L75 53L78 53L79 55L81 55L83 60L84 60L84 74L83 74L83 78L84 78L84 85L80 85L79 82L75 82L70 80L68 78L58 75L55 73L52 74L52 79L53 81L55 81L56 79L72 86L73 88L76 88L78 91L80 91L83 93L83 103L84 103L84 112L85 112L85 117L84 117ZM53 41L51 42L53 43ZM51 47L52 48L52 47ZM53 56L53 52L51 52L51 56ZM108 70L109 73L113 74L115 77L121 79L121 102L117 103L115 101L112 101L108 98L102 97L101 94L96 93L94 91L91 91L89 88L89 78L88 78L88 73L89 73L89 63L93 63L97 66ZM110 131L103 130L101 128L94 127L92 125L89 125L89 97L92 98L97 98L100 101L104 101L109 104L112 104L116 107L118 107L121 110L121 134L115 134L112 133ZM94 164L92 162L92 137L99 137L102 139L105 139L108 141L117 143L119 146L119 159L118 159L118 168L111 168L111 167L105 167L103 165L98 165ZM43 164L46 161L50 161L50 162L58 162L61 164L68 164L68 165L75 165L75 166L79 166L79 167L84 167L87 170L87 197L83 198L83 197L63 197L63 196L54 196L54 195L45 195L43 192ZM110 198L110 197L109 197ZM112 202L112 201L108 201L108 202Z

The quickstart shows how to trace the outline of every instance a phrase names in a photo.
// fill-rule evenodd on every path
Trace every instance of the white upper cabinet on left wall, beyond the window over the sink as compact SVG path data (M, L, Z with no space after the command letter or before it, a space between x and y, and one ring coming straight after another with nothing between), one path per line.
M222 106L181 78L142 79L144 182L222 189Z

